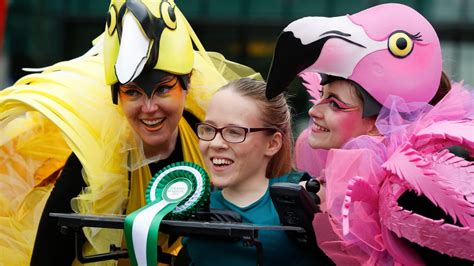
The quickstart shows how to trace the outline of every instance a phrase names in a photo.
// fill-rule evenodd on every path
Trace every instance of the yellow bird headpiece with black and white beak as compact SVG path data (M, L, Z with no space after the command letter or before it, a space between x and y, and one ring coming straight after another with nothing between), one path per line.
M194 50L185 18L172 0L112 1L104 42L105 79L117 103L118 85L138 83L147 94L163 76L187 88Z

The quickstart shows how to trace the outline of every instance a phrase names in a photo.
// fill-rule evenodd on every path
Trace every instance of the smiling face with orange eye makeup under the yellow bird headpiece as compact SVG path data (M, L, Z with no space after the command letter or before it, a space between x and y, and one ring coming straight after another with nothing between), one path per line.
M165 76L155 84L151 95L133 82L121 85L119 96L128 122L143 141L145 153L166 150L177 134L184 111L186 91L178 78Z

